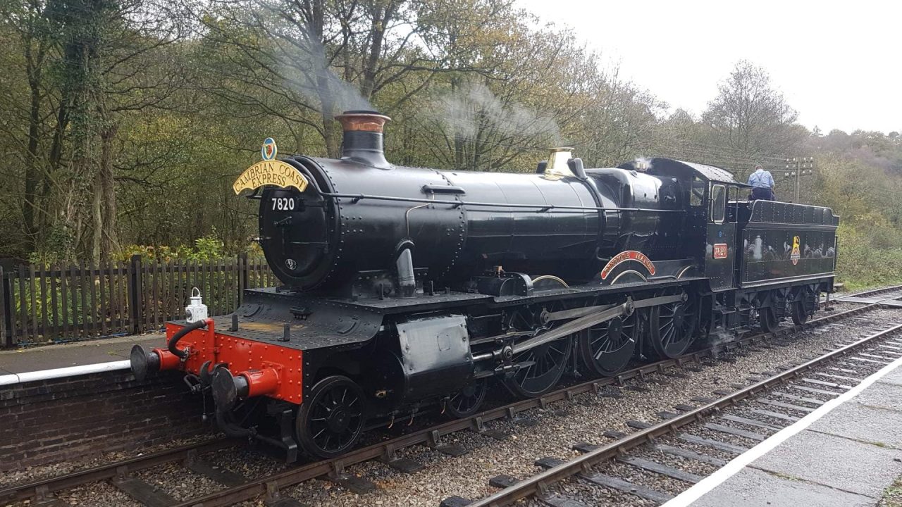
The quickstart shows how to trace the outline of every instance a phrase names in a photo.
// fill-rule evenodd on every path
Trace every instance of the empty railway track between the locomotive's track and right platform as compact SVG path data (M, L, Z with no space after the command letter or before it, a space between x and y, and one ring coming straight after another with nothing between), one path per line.
M544 470L523 480L492 479L498 492L474 502L452 497L446 507L508 505L535 497L537 505L579 507L597 502L600 490L606 504L659 504L699 482L704 475L687 472L701 466L713 473L732 458L814 411L883 366L902 357L902 321L870 336L838 346L779 373L765 374L718 399L696 399L697 407L679 406L659 414L657 423L632 420L636 431L608 433L603 445L575 443L584 454L569 460L542 457ZM770 372L769 372L770 373ZM681 466L683 465L683 466ZM563 485L557 485L563 483ZM649 484L665 484L664 488ZM589 500L585 501L584 497Z

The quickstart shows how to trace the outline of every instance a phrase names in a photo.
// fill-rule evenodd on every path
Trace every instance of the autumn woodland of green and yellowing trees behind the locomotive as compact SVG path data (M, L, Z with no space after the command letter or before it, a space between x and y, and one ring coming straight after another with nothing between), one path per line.
M386 152L402 165L533 171L558 144L587 167L667 156L742 179L814 155L802 201L842 216L842 280L894 276L902 138L817 132L804 145L796 112L750 62L723 69L700 115L667 114L575 33L507 0L302 4L0 7L0 257L259 255L259 203L232 182L266 137L282 155L336 155L333 115L363 102L391 115ZM786 185L778 177L778 196Z

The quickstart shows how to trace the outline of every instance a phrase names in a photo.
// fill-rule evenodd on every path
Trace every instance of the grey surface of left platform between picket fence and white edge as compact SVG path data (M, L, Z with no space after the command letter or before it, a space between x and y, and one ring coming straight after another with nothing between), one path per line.
M134 344L150 348L164 346L164 341L162 334L152 334L3 351L0 352L0 374L122 361L128 359Z

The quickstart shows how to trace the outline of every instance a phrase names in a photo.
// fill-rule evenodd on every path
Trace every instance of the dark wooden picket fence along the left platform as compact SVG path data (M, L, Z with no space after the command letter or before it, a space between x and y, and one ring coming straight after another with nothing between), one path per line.
M269 266L244 255L213 261L143 259L0 268L0 346L159 331L183 318L197 287L211 316L231 313L244 289L274 287Z

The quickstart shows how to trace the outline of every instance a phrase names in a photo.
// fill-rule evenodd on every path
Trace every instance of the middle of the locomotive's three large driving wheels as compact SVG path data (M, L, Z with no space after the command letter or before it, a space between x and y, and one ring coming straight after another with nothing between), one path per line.
M638 313L612 318L580 333L579 351L589 373L612 376L626 368L636 350Z

